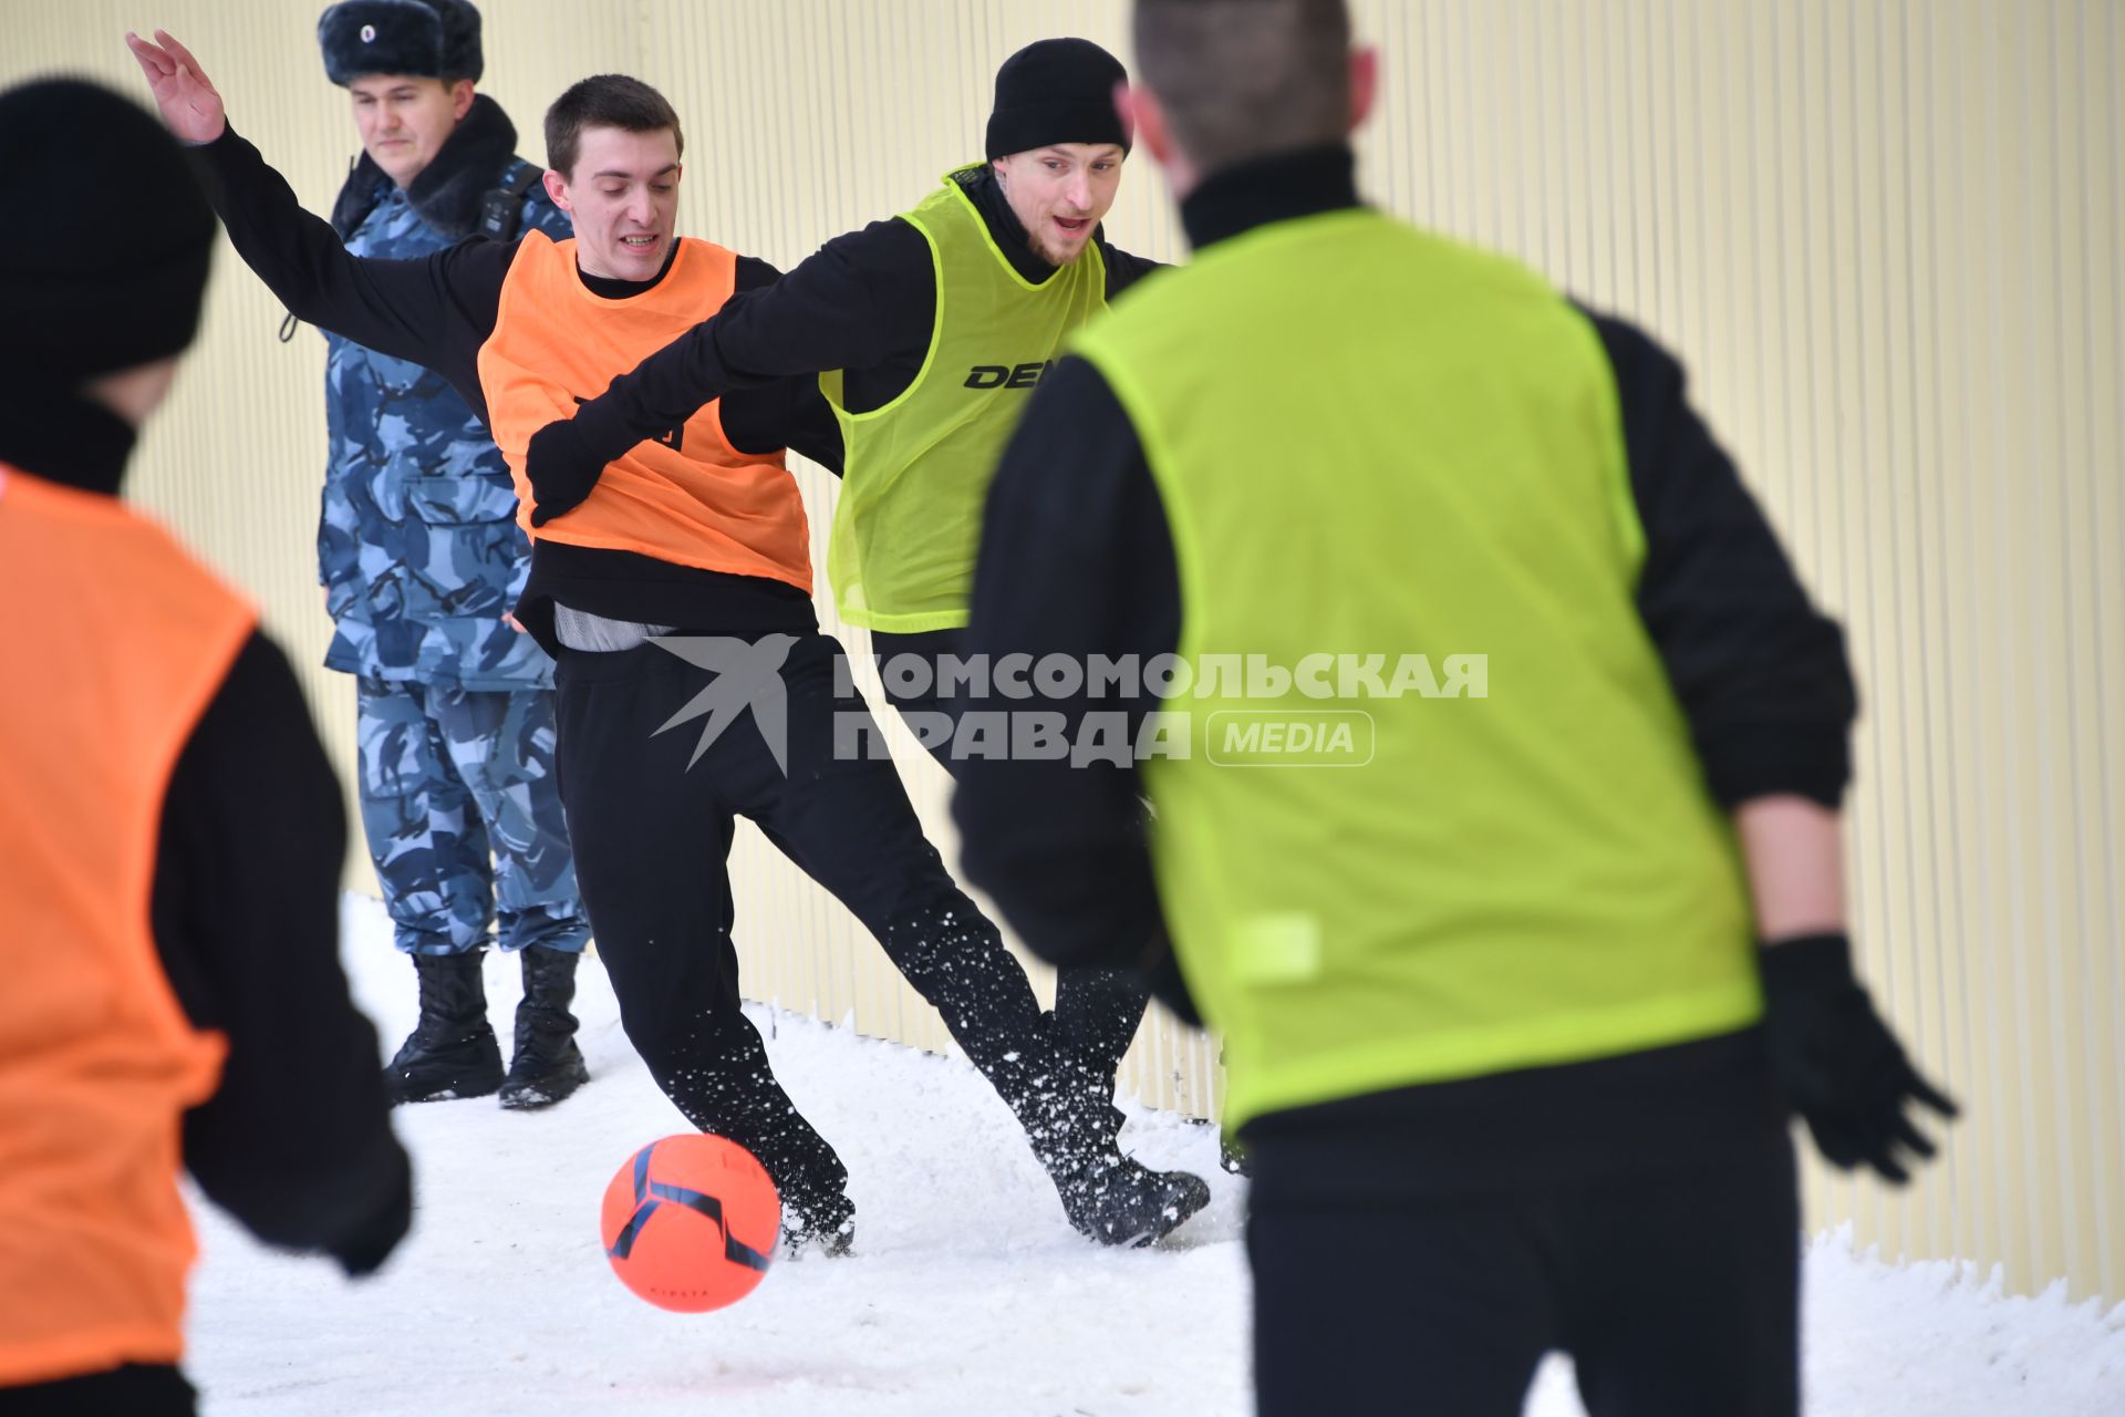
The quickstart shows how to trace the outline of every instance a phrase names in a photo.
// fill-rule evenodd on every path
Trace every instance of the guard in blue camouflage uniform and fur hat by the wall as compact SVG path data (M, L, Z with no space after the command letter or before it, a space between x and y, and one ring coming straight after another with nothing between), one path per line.
M317 28L353 98L363 155L334 204L346 249L423 257L567 217L514 155L516 130L472 85L465 0L346 0ZM502 453L421 365L327 336L319 576L357 676L361 824L421 977L421 1022L391 1060L397 1103L484 1096L542 1107L589 1077L570 1001L589 924L555 784L552 661L508 620L529 546ZM508 1077L487 1022L489 920L523 956Z

